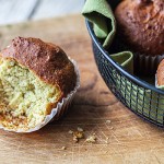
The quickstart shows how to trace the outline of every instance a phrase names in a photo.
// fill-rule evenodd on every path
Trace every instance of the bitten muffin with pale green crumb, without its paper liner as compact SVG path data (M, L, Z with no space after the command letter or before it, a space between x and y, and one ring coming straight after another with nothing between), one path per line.
M60 47L14 38L0 52L0 125L14 131L35 128L75 84L74 66Z

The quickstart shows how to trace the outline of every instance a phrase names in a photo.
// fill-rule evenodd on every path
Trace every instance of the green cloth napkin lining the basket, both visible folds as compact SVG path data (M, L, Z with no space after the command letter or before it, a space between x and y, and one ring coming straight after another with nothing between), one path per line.
M115 1L115 4L118 0ZM114 4L114 5L115 5ZM116 21L113 10L106 0L86 0L82 14L93 23L95 35L103 39L103 47L108 48L116 34ZM133 73L133 55L122 51L110 57L128 72Z

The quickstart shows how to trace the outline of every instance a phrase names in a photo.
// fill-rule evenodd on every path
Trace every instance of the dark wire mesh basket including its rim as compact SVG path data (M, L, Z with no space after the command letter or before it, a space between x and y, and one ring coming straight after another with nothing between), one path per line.
M86 26L92 38L95 61L106 85L133 113L164 127L164 91L125 71L103 48L87 20Z

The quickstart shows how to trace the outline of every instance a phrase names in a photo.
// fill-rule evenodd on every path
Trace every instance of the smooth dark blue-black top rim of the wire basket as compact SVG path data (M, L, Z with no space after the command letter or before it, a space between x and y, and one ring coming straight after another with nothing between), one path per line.
M99 51L103 54L103 56L117 69L119 70L127 79L130 79L132 82L134 82L136 84L138 84L139 86L142 86L144 89L154 91L159 94L163 94L164 95L164 91L156 89L154 85L141 80L140 78L130 74L129 72L127 72L126 70L122 69L122 67L120 65L118 65L117 62L115 62L109 54L104 49L104 47L102 46L102 44L98 42L97 37L94 34L93 27L92 27L92 23L85 19L85 23L86 23L86 27L89 31L89 34L92 38L92 42L94 42L94 44L97 46L97 48L99 49Z

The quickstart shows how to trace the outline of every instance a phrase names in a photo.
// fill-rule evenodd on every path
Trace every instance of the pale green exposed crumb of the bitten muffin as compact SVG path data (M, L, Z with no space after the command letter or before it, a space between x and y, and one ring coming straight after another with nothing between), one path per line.
M0 59L0 124L5 128L34 128L59 96L58 87L40 81L15 60Z

